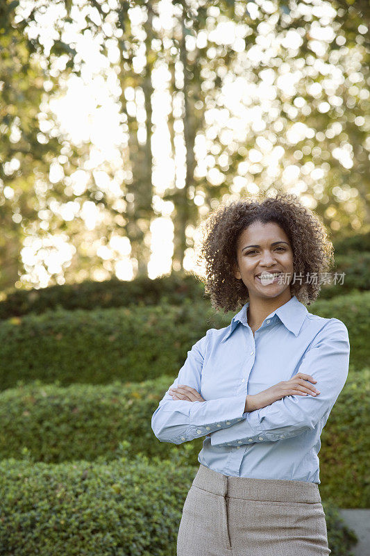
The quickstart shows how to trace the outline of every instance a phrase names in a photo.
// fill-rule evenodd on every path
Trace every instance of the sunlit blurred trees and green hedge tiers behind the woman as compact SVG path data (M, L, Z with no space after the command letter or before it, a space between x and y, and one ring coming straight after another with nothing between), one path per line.
M335 246L309 311L350 373L321 435L332 556L370 507L367 0L0 2L0 555L174 556L201 439L151 415L233 314L196 247L220 202L298 195ZM334 372L334 370L333 370ZM359 553L356 553L356 555Z

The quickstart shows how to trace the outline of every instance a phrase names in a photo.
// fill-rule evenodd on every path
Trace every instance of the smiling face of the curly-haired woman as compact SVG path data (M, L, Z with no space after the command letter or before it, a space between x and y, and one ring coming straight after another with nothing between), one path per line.
M284 275L280 283L275 272ZM242 231L237 241L235 278L242 279L250 300L279 297L288 301L293 272L292 247L278 224L255 221Z

